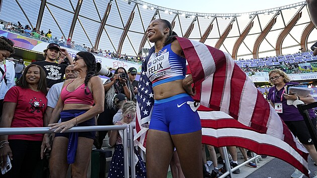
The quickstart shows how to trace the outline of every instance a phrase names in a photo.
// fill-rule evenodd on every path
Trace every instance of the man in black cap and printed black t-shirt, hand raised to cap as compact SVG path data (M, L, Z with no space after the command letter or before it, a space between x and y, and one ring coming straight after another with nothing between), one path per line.
M70 64L73 64L73 59L66 49L60 48L56 43L50 43L44 50L44 61L35 61L33 64L41 66L46 73L46 84L50 88L53 84L63 81L65 68L67 65L56 63L56 59L64 55L69 60Z

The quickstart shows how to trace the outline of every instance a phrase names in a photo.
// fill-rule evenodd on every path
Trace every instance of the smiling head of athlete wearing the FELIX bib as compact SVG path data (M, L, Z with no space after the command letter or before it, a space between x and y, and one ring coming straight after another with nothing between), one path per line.
M146 30L147 38L151 43L159 40L164 40L170 33L170 29L166 27L166 24L161 19L153 20Z

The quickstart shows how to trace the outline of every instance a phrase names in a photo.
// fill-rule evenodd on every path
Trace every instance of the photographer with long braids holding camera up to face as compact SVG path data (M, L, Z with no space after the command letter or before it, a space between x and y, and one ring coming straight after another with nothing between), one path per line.
M99 114L98 125L108 126L113 125L113 116L117 113L118 109L115 107L113 98L115 94L124 94L128 100L134 99L133 86L130 83L128 74L123 67L117 68L113 77L109 78L105 84L105 110ZM105 136L108 131L99 131L99 144L95 144L97 149L100 149Z

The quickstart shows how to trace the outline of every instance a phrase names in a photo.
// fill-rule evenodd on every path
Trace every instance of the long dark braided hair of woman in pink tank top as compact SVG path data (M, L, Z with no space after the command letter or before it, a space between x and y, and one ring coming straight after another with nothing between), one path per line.
M87 84L91 77L96 76L96 70L97 70L97 64L96 64L96 58L95 56L87 51L81 51L77 53L78 56L83 57L86 66L87 66L87 74L85 77L85 94L89 95L90 93L87 92Z

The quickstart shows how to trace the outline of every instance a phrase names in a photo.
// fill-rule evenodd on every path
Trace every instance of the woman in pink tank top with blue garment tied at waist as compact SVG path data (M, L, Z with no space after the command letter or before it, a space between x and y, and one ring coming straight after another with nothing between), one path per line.
M105 92L101 78L96 76L96 68L92 53L76 54L74 70L78 71L78 77L64 82L48 124L51 130L56 129L49 161L50 177L65 177L69 164L72 176L87 174L95 132L63 132L74 126L95 126L95 117L103 112ZM61 123L57 123L59 118ZM45 146L50 150L48 136L44 135L42 152Z

